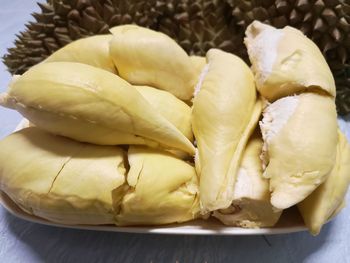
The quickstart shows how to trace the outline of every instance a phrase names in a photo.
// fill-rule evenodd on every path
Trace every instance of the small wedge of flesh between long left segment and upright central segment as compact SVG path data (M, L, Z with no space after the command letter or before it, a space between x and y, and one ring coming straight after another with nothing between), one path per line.
M193 141L190 106L170 92L148 86L134 87L156 111L170 121L190 141Z

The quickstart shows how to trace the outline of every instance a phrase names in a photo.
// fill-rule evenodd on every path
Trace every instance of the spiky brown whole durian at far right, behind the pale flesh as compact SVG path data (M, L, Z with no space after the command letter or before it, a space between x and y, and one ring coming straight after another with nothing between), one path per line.
M335 76L338 112L350 112L350 1L225 1L231 6L238 31L258 20L277 28L295 27L313 40Z

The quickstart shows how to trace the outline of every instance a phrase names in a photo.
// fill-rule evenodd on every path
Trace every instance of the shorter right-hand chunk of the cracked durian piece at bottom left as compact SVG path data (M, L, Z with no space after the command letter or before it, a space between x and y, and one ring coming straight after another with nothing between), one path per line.
M194 167L158 149L131 146L128 192L121 200L117 225L159 225L198 216L198 181Z

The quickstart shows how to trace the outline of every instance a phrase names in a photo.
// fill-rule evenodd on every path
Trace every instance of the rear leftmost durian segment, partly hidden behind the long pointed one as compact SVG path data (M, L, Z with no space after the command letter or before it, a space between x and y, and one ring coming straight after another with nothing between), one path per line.
M78 62L117 74L109 55L111 39L112 35L98 35L75 40L52 53L43 63Z

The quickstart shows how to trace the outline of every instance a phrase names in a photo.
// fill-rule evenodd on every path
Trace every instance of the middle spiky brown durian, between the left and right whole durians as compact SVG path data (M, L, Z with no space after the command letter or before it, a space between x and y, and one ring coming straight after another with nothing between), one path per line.
M229 5L224 0L164 1L172 11L159 18L158 30L174 38L189 54L218 48L245 53Z

